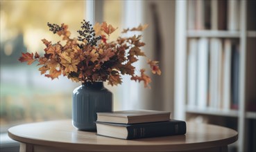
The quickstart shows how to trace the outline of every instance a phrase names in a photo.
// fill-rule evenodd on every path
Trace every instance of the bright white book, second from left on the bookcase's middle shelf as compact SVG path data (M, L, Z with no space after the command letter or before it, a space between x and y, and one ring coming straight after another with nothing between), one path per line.
M198 77L196 80L196 99L198 108L206 108L208 95L208 59L209 40L200 38L198 40Z

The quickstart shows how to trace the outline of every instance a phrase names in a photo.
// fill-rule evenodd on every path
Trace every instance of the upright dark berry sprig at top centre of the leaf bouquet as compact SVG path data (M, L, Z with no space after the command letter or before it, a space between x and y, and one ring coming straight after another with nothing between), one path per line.
M87 44L91 46L97 46L97 41L101 39L101 36L95 37L95 31L92 27L92 24L89 21L85 21L85 19L81 22L82 30L78 30L80 36L78 36L78 41L87 41Z

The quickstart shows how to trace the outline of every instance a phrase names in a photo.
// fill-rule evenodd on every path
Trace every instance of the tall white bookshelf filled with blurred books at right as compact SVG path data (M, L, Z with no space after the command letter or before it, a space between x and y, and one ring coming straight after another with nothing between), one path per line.
M176 1L174 117L237 130L230 151L256 151L255 8L246 0Z

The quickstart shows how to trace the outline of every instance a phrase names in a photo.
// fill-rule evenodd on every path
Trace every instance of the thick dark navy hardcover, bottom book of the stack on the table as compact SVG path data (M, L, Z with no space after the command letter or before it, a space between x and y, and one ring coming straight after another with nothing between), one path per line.
M186 122L181 120L139 124L117 124L97 121L96 129L97 135L132 140L146 137L184 135L187 131L187 126Z

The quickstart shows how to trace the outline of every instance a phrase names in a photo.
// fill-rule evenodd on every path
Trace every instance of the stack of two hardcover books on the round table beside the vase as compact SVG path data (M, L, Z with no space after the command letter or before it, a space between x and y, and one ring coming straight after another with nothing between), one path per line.
M170 120L170 115L167 111L147 110L97 113L97 135L125 140L184 135L187 129L186 122Z

